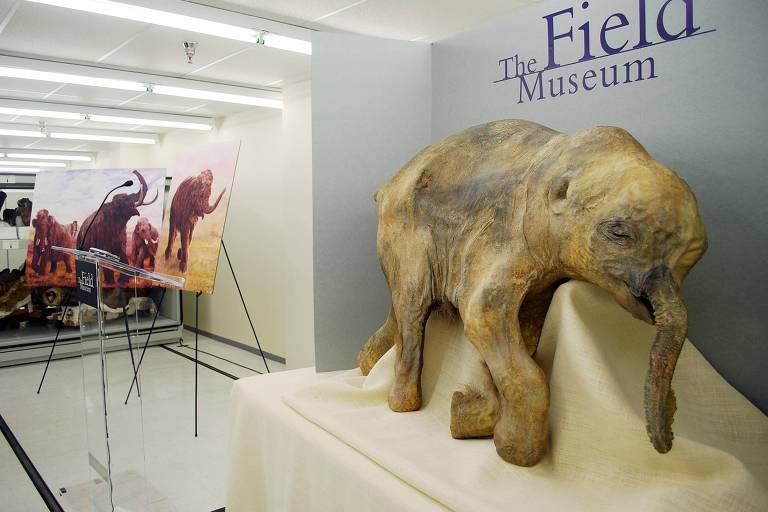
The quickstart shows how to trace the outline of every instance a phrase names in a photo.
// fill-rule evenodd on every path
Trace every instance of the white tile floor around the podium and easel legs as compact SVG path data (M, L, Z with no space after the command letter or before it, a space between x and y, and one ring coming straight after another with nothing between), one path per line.
M184 346L168 345L194 356L194 334L184 333ZM264 371L261 357L200 337L200 360L237 377ZM108 354L110 402L120 401L130 385L127 351ZM228 359L225 361L221 358ZM270 370L284 366L268 361ZM90 470L87 453L83 364L80 358L54 361L40 395L35 394L43 363L0 368L0 413L62 505L74 512L74 493L96 475ZM125 368L126 371L121 369ZM147 350L142 365L141 393L144 418L147 480L165 500L157 510L211 512L225 504L227 472L227 404L234 382L204 368L198 369L199 423L194 437L194 364L161 347ZM119 395L119 397L118 397ZM135 396L135 395L134 395ZM90 400L89 400L90 402ZM129 411L128 407L115 410ZM135 405L134 411L135 411ZM127 414L127 412L126 412ZM121 424L116 416L111 424ZM93 451L93 450L92 450ZM130 450L129 450L130 451ZM137 453L140 450L137 450ZM121 456L119 450L113 460ZM0 437L0 496L7 512L44 511L5 439Z

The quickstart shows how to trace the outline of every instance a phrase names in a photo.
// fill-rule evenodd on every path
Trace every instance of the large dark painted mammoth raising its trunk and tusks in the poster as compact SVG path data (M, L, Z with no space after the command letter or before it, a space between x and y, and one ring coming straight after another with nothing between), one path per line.
M133 171L139 180L140 188L133 194L115 194L112 199L104 203L101 210L91 213L85 218L80 231L77 234L77 246L87 251L91 247L97 247L109 251L118 256L120 261L128 263L126 254L126 224L131 217L139 215L140 206L149 206L159 197L160 192L155 191L155 197L145 202L147 196L147 182L139 171ZM98 212L98 214L97 214ZM120 274L125 279L125 274ZM106 272L105 282L113 283L112 272Z

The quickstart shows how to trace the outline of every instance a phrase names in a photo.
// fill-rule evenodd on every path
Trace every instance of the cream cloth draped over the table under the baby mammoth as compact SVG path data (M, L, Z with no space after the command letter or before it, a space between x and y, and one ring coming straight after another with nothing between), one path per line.
M533 468L502 461L490 439L451 438L451 394L478 355L437 315L420 411L387 406L392 351L368 377L239 381L227 510L768 510L768 418L690 342L673 382L674 446L654 451L643 414L654 334L600 289L560 287L536 355L550 377L550 450Z

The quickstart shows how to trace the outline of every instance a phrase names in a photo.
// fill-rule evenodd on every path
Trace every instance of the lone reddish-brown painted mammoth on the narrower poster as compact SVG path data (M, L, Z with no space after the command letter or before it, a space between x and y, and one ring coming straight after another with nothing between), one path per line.
M189 244L192 243L192 233L199 219L210 215L219 206L226 188L219 193L213 204L208 204L211 198L213 172L206 169L197 176L185 179L176 189L171 201L170 226L168 227L168 245L165 247L165 259L171 257L176 235L181 236L181 247L176 253L179 259L179 270L187 271L189 262Z

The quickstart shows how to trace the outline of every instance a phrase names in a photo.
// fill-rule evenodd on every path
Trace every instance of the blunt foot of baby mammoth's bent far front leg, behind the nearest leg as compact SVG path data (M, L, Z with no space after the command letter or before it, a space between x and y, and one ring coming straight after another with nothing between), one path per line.
M486 437L499 421L499 399L495 393L468 388L454 391L451 398L451 436L454 439Z

